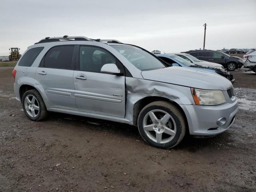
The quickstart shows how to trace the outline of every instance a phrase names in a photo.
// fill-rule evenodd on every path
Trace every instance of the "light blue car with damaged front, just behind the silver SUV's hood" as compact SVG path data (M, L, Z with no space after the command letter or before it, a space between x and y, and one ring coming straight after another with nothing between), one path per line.
M224 76L228 80L232 82L232 84L235 82L235 79L230 72L227 72L225 70L220 70L216 68L209 68L209 67L202 67L196 64L192 64L191 62L188 62L187 60L174 55L174 54L156 54L160 59L164 60L166 63L172 65L172 66L180 66L180 67L187 67L187 68L193 68L196 70L202 70L202 71L208 71L211 73L219 74L221 76Z

